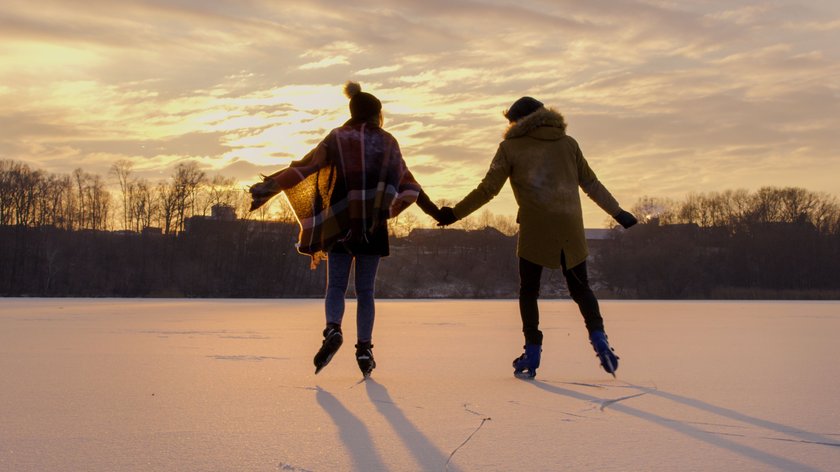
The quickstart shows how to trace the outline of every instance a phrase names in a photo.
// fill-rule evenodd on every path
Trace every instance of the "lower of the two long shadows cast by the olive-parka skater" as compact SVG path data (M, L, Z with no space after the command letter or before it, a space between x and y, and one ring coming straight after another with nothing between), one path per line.
M555 395L562 395L564 397L574 398L576 400L583 400L593 403L604 402L603 398L598 398L592 395L587 395L585 393L576 392L574 390L568 390L565 388L557 387L539 380L534 380L529 383L532 383L535 387L545 390L549 393L553 393ZM654 413L648 413L646 411L639 410L638 408L633 408L631 406L623 405L621 403L613 403L610 405L610 409L618 411L620 413L624 413L626 415L643 419L645 421L649 421L651 423L655 423L659 426L662 426L663 428L676 431L698 441L702 441L716 447L727 449L736 454L740 454L744 457L748 457L750 459L761 462L767 465L768 467L781 469L784 471L798 470L803 472L819 472L819 469L815 469L806 464L792 461L785 457L773 455L753 447L744 446L734 441L730 441L726 438L709 434L708 432L696 428L692 425L674 421L673 419L665 418Z

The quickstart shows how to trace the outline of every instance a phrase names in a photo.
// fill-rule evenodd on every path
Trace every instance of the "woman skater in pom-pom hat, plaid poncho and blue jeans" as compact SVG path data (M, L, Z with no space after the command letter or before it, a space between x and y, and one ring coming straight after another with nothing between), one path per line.
M327 260L327 326L314 358L316 374L344 341L344 295L355 262L356 360L367 377L376 367L374 283L380 258L389 254L387 220L415 201L435 219L439 210L414 180L397 140L382 129L382 102L356 82L348 82L344 93L350 119L249 191L252 211L284 192L300 224L298 252L312 258L313 268Z

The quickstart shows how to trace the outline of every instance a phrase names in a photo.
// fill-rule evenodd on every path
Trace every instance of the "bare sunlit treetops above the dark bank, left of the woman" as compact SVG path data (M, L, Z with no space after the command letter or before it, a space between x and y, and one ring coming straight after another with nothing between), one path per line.
M214 205L246 214L244 192L234 179L209 177L195 162L178 164L160 182L134 175L128 161L116 162L108 177L76 169L52 174L12 160L0 160L0 225L67 230L183 231L194 215ZM109 190L116 181L119 194Z

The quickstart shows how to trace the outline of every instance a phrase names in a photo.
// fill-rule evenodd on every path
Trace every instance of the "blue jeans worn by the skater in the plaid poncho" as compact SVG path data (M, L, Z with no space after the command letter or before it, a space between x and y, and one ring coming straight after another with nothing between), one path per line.
M373 336L375 307L373 289L380 256L352 255L331 252L327 259L327 323L341 325L344 318L344 295L350 283L350 267L356 260L356 336L359 342L370 342Z

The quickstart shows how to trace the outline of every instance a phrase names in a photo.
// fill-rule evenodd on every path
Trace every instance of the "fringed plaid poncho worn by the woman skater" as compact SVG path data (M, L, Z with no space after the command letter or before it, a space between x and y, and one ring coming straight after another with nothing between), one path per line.
M370 123L336 128L303 159L251 187L251 210L283 191L312 268L340 241L365 241L417 200L420 185L391 134Z

